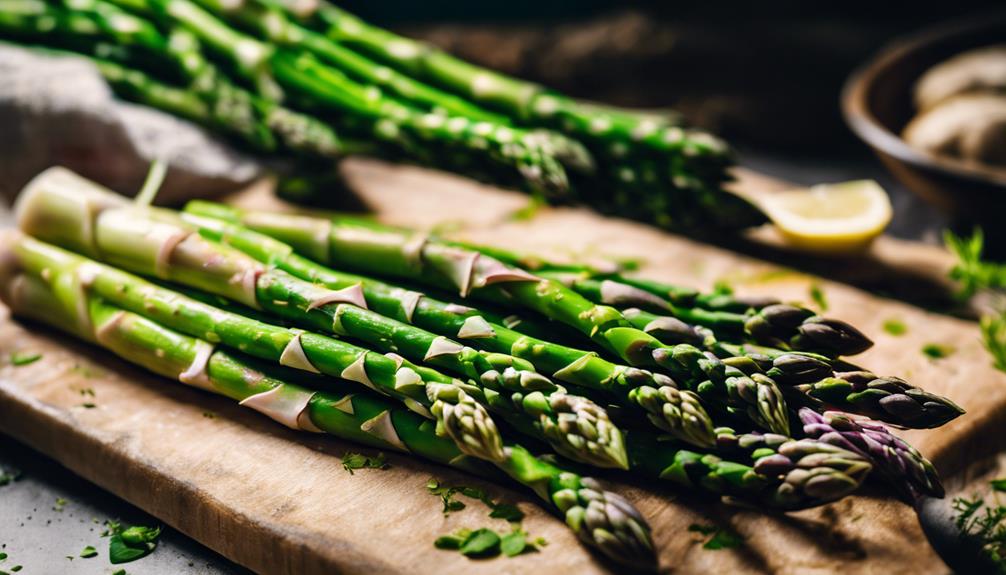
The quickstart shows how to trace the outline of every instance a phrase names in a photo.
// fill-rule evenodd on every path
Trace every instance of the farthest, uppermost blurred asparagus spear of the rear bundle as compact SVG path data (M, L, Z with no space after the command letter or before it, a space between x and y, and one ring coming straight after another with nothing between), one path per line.
M728 179L725 170L732 160L726 146L708 134L682 129L652 115L614 112L579 103L537 84L474 66L430 45L376 28L328 3L318 4L307 13L288 0L275 3L323 31L335 43L502 112L515 122L550 128L582 142L609 166L603 170L609 185L625 181L619 164L626 161L663 164L658 173L664 185L651 191L640 189L637 201L625 204L626 211L636 217L674 225L687 209L682 209L684 203L670 205L661 198L680 188L691 207L701 212L701 218L693 221L706 229L744 227L765 221L757 208L720 188ZM593 199L604 200L607 192L603 189ZM640 204L660 209L637 210ZM681 222L677 225L680 227Z

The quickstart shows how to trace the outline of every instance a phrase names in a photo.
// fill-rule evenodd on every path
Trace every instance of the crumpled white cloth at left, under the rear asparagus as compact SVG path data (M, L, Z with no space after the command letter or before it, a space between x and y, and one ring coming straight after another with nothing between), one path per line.
M261 173L202 129L117 100L86 58L0 44L0 198L8 203L56 164L133 195L150 163L165 160L159 204L233 190Z

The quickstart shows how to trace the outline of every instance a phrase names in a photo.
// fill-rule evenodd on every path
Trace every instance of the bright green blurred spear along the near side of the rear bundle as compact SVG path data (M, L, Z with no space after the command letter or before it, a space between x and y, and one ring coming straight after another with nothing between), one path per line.
M138 0L115 1L134 5ZM377 86L350 79L311 53L280 48L239 33L189 0L139 1L166 25L195 34L269 100L289 95L317 110L333 112L344 122L362 126L370 138L398 146L406 154L417 154L420 161L437 161L439 157L412 142L474 154L495 166L504 178L518 178L535 193L562 195L567 189L565 171L539 136L464 117L424 113L384 94Z

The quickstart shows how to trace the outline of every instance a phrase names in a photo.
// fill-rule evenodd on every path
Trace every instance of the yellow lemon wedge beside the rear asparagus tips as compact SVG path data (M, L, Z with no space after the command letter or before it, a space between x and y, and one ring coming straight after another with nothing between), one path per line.
M865 248L892 213L887 192L873 180L768 194L759 203L787 243L832 253Z

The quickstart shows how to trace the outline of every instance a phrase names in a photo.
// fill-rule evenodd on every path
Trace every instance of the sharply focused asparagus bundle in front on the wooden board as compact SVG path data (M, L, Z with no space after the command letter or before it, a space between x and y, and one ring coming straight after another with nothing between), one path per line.
M774 327L779 348L677 317L665 318L675 333L701 337L663 343L489 250L206 202L151 208L61 169L26 187L17 217L21 233L0 253L0 297L15 314L296 429L508 476L627 565L653 564L649 528L580 468L780 511L842 498L871 468L905 501L943 495L930 461L862 416L931 427L960 408L801 351L803 316ZM394 279L458 290L465 305ZM674 309L748 323L776 305L689 301ZM580 332L583 349L535 315ZM844 334L824 338L843 350L865 345L851 326L816 323Z

